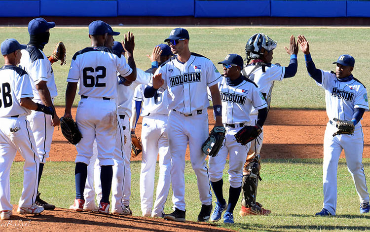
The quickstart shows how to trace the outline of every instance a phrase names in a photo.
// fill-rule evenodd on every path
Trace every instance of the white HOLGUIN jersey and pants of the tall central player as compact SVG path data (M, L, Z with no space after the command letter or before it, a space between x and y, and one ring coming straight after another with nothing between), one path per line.
M212 204L206 155L201 147L208 138L207 86L213 86L221 75L208 58L191 53L190 58L181 63L177 56L157 69L168 89L168 139L172 155L171 183L174 207L185 210L185 152L187 143L190 161L197 176L199 198L203 205Z

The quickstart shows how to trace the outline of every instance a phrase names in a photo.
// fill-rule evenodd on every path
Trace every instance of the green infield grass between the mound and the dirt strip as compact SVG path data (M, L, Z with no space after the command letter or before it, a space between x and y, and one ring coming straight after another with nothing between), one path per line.
M370 159L364 159L365 174L369 176ZM14 162L11 169L11 202L18 203L22 188L23 162ZM226 163L226 168L228 163ZM130 207L135 216L141 216L139 175L140 162L131 163L132 195ZM157 182L158 168L155 175ZM258 201L272 211L269 216L240 217L240 198L234 211L235 224L226 226L221 221L218 226L240 232L306 232L306 231L367 231L370 228L370 215L360 215L359 198L345 159L340 159L338 167L337 216L314 217L323 202L322 159L264 159L259 182ZM223 193L228 197L228 175L224 170ZM186 219L196 221L200 210L196 177L190 162L185 169ZM45 164L40 184L42 198L55 203L57 207L68 208L74 199L74 163L48 162ZM172 212L172 192L167 199L165 212ZM214 200L216 198L214 197Z

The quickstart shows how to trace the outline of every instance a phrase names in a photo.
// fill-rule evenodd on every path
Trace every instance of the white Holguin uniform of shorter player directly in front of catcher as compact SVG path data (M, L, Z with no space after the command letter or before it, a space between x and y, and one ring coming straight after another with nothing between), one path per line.
M222 179L226 158L229 154L229 183L232 188L242 185L243 165L251 143L243 146L236 142L234 135L245 125L251 125L251 109L257 111L267 107L258 86L246 77L236 86L227 83L226 77L219 83L222 101L222 123L226 134L219 155L209 157L209 174L212 182Z

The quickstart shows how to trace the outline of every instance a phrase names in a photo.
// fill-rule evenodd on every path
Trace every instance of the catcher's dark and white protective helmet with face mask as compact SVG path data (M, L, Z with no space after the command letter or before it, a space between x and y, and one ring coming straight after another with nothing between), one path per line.
M248 60L259 58L265 51L269 52L275 49L276 42L263 33L257 33L248 39L245 45L245 54Z

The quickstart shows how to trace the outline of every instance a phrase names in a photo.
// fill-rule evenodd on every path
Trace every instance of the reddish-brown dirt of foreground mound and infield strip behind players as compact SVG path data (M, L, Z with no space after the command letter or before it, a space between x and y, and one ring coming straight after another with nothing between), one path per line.
M64 109L59 107L59 116ZM73 115L75 115L75 108ZM210 128L214 125L212 111L209 110ZM264 141L261 157L266 158L322 158L324 131L327 122L323 110L282 110L271 109L264 125ZM362 121L365 134L364 157L370 157L369 122ZM141 119L138 122L137 135L141 134ZM76 149L67 144L61 130L54 131L48 161L74 161ZM343 157L343 153L341 155ZM140 160L141 156L133 160ZM186 152L189 159L189 152ZM22 157L17 154L16 161ZM15 208L13 212L15 212ZM21 220L21 221L20 221ZM31 220L31 221L30 221ZM9 223L10 222L10 223ZM11 221L0 221L0 231L22 229L25 231L157 231L157 232L208 232L228 231L209 223L175 223L163 219L142 217L120 217L93 213L76 213L67 209L57 208L45 211L36 217L24 217L15 214Z

